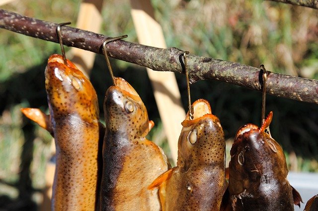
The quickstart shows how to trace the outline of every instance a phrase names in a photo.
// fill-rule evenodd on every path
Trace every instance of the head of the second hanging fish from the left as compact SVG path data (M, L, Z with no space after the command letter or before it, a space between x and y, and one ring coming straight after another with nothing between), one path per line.
M104 115L107 131L127 132L133 139L149 132L146 106L135 89L122 78L115 77L115 86L106 91Z

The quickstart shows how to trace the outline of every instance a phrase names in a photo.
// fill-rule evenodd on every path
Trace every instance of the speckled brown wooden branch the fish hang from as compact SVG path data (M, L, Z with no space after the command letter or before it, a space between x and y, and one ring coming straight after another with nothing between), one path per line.
M0 28L46 41L58 43L56 23L22 16L0 9ZM107 36L62 26L63 43L66 46L102 54L102 44ZM109 55L127 62L149 67L156 71L183 73L183 51L176 48L160 49L123 40L107 44ZM256 67L194 54L187 57L191 83L213 79L261 91L262 73ZM318 104L318 81L268 71L267 93Z

